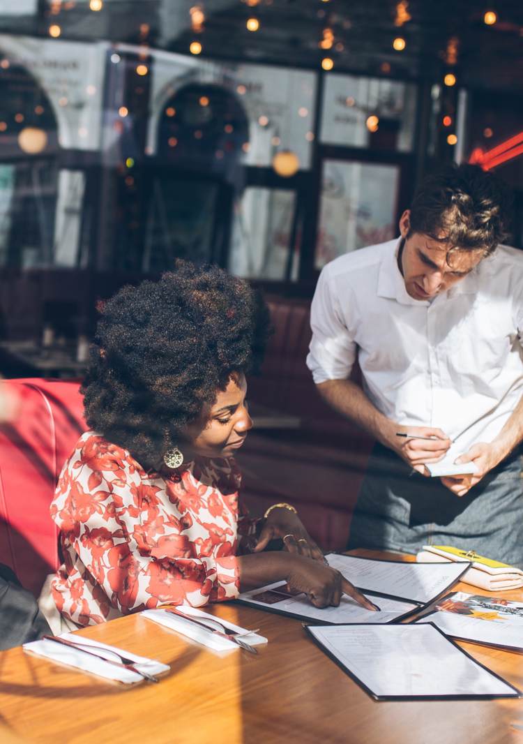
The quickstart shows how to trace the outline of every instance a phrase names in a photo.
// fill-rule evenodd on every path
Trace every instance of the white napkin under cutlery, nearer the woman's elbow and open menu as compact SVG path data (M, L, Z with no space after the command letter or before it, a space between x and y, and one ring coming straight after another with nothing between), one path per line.
M214 615L209 615L209 612L203 612L201 609L198 609L196 607L183 605L178 609L180 609L181 612L185 613L185 615L192 615L197 619L201 618L202 620L218 620L218 622L221 623L222 626L241 633L241 640L245 641L245 643L249 644L250 646L267 643L267 638L264 638L263 635L259 635L258 633L251 633L246 628L241 628L239 625L230 623L228 620L224 620L223 618L215 618ZM164 625L166 626L166 628L170 628L172 630L178 631L179 633L183 633L183 635L186 635L187 638L192 638L192 641L197 641L198 644L207 646L209 649L215 651L229 651L239 648L238 644L235 644L234 641L229 641L227 638L221 638L220 635L216 635L215 633L209 633L207 632L207 630L198 627L198 625L192 623L190 620L184 620L179 615L174 615L168 610L146 609L143 612L140 612L140 615L142 615L143 618L147 618L148 620L154 620L155 623L160 623L160 625ZM209 627L211 627L211 623L209 623ZM220 627L218 625L212 624L212 629L220 630Z

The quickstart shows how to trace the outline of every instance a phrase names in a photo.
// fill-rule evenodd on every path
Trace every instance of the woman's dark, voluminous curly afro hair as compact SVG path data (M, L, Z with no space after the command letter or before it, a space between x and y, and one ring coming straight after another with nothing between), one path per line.
M178 260L102 307L82 385L91 429L146 469L201 419L235 373L256 371L269 335L259 292L217 266Z

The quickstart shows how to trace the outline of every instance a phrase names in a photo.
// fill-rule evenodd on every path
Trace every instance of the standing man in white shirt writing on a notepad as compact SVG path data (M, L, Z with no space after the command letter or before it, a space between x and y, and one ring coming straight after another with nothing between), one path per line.
M498 246L504 199L492 174L447 166L418 188L399 240L320 275L308 367L377 439L351 548L455 545L523 564L523 253ZM363 387L348 379L356 359ZM443 459L477 472L427 478Z

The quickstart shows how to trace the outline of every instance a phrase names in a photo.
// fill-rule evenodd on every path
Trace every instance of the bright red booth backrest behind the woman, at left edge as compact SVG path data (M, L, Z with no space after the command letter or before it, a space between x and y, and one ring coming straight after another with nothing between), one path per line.
M62 464L85 431L77 382L5 382L20 399L19 417L0 427L0 562L39 594L59 563L49 515Z

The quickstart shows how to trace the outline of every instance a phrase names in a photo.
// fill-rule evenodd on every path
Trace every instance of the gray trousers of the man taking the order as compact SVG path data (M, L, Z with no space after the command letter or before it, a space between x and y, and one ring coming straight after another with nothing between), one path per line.
M523 568L522 466L516 449L460 498L377 444L347 548L417 553L422 545L453 545Z

